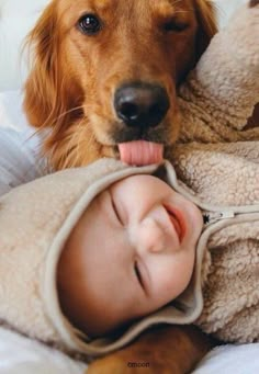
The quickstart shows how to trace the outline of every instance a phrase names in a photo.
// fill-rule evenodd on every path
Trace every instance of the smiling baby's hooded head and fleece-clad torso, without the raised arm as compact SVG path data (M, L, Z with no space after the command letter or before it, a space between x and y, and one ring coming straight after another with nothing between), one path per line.
M89 356L154 324L258 341L259 147L234 146L178 149L181 182L102 159L5 194L1 319Z

